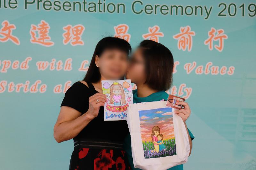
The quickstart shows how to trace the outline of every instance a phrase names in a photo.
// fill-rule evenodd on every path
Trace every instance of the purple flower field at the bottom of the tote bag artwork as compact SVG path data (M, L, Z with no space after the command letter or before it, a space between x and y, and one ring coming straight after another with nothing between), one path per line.
M143 144L143 150L144 150L144 157L147 158L160 158L165 156L172 156L176 155L176 144L175 139L168 139L163 140L163 144L166 146L166 148L162 151L151 152L151 150L154 150L154 144L152 142L142 142Z

